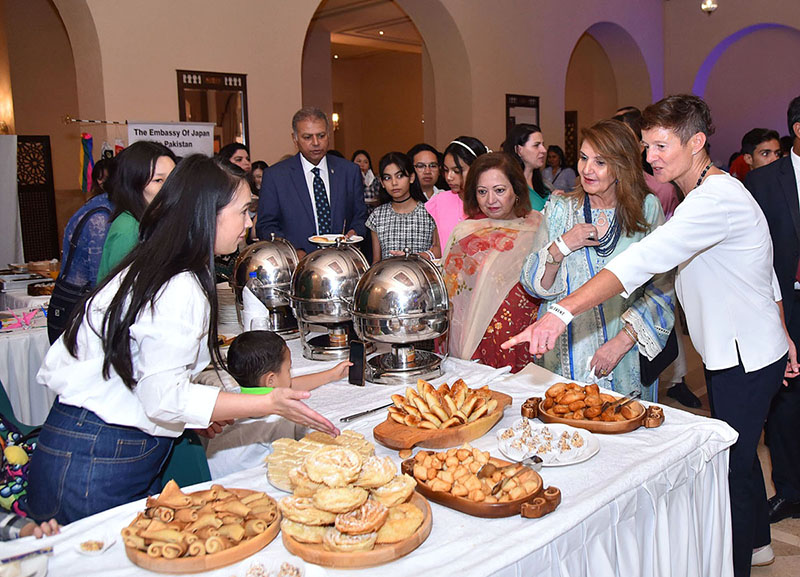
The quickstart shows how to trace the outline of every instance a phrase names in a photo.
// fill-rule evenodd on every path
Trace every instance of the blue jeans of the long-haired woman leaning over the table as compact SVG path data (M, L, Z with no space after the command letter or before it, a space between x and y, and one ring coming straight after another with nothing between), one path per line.
M65 524L158 493L173 440L56 400L31 457L28 513Z

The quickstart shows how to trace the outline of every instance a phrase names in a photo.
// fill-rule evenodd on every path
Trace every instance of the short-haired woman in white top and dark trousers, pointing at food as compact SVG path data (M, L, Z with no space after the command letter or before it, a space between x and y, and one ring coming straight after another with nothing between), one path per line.
M659 182L674 181L686 199L672 219L503 346L529 342L541 355L573 316L677 267L675 292L703 359L711 414L739 433L728 479L733 568L740 577L750 574L751 562L771 562L756 448L781 376L796 376L800 367L783 326L766 219L744 186L714 167L707 148L713 132L708 106L696 96L670 96L647 107L647 161Z

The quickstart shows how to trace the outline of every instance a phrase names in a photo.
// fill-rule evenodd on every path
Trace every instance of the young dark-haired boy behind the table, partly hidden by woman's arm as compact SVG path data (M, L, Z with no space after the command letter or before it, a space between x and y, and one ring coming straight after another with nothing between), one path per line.
M327 371L292 378L292 356L284 340L272 331L249 331L237 336L228 350L228 373L246 395L266 395L276 387L311 391L347 377L349 361ZM264 462L270 443L295 438L295 424L277 415L240 419L209 439L206 457L211 477L218 479Z

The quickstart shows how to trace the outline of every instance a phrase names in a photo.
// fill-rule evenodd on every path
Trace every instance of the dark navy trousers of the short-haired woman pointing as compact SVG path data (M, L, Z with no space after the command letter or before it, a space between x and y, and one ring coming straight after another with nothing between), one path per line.
M750 575L753 549L770 542L767 494L756 449L785 369L786 355L751 373L744 372L741 361L729 369L705 371L711 415L739 433L728 468L736 577Z

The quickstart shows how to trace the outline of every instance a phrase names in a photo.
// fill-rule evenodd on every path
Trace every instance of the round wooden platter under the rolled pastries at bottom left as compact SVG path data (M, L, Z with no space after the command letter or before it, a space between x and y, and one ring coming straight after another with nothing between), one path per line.
M239 497L245 497L251 493L258 492L249 489L226 488L226 490ZM155 571L156 573L200 573L202 571L210 571L212 569L218 569L219 567L225 567L226 565L232 565L233 563L257 553L269 545L278 535L278 531L280 531L281 528L281 513L277 505L275 509L278 516L265 532L242 541L235 547L220 551L219 553L212 553L211 555L202 555L199 557L164 559L163 557L148 557L145 551L140 551L134 547L125 547L125 554L134 565L138 565L149 571Z

